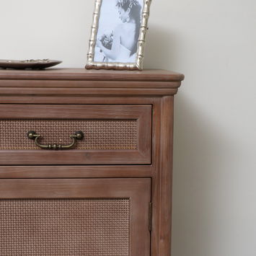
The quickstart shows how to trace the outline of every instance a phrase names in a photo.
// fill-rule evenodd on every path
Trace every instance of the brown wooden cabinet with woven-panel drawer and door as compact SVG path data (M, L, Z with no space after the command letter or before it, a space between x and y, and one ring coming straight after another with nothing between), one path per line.
M183 78L0 70L0 255L170 255Z

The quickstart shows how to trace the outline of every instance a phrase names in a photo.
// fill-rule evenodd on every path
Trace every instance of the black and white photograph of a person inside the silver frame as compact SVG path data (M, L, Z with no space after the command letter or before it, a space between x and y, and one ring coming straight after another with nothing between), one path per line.
M135 63L144 0L102 0L94 62Z

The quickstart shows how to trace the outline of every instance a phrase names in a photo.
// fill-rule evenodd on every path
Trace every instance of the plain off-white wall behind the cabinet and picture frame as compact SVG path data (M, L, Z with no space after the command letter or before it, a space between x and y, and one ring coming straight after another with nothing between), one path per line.
M84 67L93 9L94 0L1 0L0 58ZM172 256L256 255L255 11L255 0L152 1L144 66L185 74Z

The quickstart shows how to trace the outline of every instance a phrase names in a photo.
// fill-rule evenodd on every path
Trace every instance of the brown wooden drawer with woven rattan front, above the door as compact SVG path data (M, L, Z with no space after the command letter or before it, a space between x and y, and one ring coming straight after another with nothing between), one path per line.
M151 164L151 105L0 105L0 164Z

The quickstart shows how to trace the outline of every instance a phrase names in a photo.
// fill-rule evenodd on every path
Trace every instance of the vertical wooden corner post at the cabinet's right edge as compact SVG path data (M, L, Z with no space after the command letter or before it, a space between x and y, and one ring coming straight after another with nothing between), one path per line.
M154 202L151 239L152 255L171 255L172 224L172 145L173 97L162 97L159 106L159 137L156 146L156 172L152 182Z

